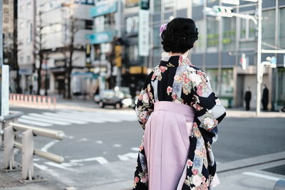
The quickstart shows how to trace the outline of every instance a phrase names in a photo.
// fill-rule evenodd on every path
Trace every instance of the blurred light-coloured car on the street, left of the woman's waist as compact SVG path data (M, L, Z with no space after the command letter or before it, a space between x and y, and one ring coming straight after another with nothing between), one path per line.
M133 99L132 96L128 94L128 90L117 88L115 90L103 90L98 104L100 107L113 105L115 109L120 109L121 107L130 107L133 104Z

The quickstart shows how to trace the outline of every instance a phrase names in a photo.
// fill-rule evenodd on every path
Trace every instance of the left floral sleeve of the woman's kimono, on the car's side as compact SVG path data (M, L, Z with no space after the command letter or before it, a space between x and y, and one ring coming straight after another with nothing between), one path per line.
M147 120L154 109L153 89L152 85L150 84L152 74L153 72L150 73L147 80L145 80L145 84L143 85L140 96L138 97L138 103L135 106L138 122L140 122L143 130L145 130L145 124L147 123Z

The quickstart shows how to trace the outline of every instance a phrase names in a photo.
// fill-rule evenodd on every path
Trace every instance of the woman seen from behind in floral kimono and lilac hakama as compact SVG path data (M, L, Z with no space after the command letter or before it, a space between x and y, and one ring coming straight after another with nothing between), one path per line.
M145 133L133 189L209 189L219 184L211 144L225 109L209 77L187 58L198 39L195 22L172 19L160 32L167 53L145 80L135 109Z

